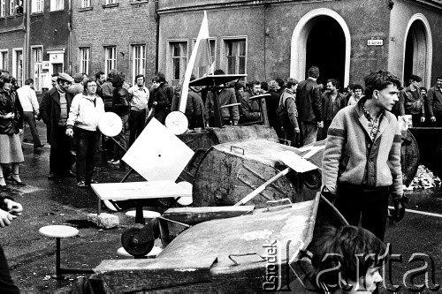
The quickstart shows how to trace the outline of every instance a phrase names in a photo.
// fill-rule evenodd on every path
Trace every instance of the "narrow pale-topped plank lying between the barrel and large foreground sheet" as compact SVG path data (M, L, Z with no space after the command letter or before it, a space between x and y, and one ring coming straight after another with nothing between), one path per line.
M249 215L253 213L255 206L244 207L180 207L167 209L163 217L177 222L194 224L217 220L221 218L230 218L240 215Z

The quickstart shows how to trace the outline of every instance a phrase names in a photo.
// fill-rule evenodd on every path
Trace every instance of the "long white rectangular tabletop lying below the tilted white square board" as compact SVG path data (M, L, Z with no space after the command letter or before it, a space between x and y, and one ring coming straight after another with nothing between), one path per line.
M136 200L191 197L192 191L171 180L92 184L100 200Z

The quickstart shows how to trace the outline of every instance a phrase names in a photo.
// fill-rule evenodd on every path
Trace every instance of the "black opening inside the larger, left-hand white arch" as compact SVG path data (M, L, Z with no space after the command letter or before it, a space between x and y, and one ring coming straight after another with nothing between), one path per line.
M317 19L317 20L316 20ZM319 67L319 80L337 79L340 87L344 82L346 60L346 37L339 23L330 17L317 17L306 46L306 77L309 68Z

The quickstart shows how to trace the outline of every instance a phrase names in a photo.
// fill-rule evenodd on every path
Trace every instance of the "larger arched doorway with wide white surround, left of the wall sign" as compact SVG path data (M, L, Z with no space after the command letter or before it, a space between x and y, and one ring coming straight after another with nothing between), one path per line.
M311 65L320 69L320 79L338 79L347 86L350 74L350 31L335 11L309 11L295 26L292 35L290 76L305 79Z

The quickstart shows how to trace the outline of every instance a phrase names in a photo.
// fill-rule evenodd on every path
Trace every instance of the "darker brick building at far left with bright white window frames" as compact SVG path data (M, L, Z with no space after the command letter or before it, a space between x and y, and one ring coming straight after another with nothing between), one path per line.
M70 0L0 0L0 68L37 92L50 75L69 71ZM30 13L27 13L30 11Z

